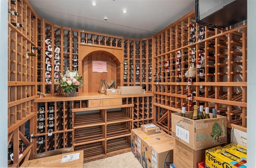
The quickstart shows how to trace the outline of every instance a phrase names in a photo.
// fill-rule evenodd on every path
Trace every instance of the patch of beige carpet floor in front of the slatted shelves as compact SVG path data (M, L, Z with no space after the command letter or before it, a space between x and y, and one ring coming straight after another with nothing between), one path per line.
M110 156L108 158L95 160L92 162L84 163L84 168L142 168L140 162L132 154L127 152L124 154L118 154L116 156Z

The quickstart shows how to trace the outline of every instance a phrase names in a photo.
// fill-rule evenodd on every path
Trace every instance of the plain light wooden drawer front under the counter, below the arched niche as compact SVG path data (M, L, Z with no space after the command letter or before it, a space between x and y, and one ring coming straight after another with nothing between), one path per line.
M88 108L122 105L122 98L88 100Z

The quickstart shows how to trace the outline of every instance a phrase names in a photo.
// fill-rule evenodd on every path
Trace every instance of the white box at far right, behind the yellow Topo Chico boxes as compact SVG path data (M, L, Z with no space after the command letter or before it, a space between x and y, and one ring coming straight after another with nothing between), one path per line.
M247 132L232 128L230 142L247 147Z

